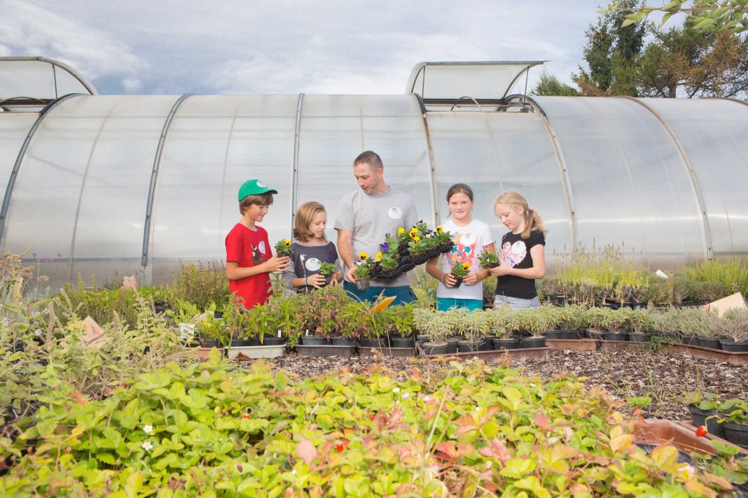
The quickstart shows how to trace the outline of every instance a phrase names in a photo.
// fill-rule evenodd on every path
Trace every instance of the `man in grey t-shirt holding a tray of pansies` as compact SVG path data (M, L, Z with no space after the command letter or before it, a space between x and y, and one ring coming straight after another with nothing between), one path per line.
M373 257L385 234L395 235L399 227L408 230L417 223L418 214L411 196L384 183L384 166L375 152L358 155L353 174L361 189L343 197L335 220L337 250L346 265L343 288L361 299L373 300L383 292L384 296L395 296L393 304L412 302L415 294L407 273L390 280L372 278L367 290L355 286L356 255L366 252Z

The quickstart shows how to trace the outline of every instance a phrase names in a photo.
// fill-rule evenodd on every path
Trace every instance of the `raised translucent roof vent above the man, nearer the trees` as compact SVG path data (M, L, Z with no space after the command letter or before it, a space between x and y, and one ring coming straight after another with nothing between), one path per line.
M476 62L422 62L408 78L405 93L414 93L427 110L506 111L510 94L527 92L530 68L547 60L487 60ZM522 76L524 75L524 78ZM521 89L512 92L515 85Z

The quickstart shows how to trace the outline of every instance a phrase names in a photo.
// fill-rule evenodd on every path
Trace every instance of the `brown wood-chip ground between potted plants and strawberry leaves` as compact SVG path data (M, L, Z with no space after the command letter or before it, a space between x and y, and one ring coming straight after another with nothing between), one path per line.
M365 373L375 364L384 365L397 378L405 378L417 368L422 373L438 372L443 361L387 357L299 357L295 353L269 360L275 370L286 370L300 378L315 376L340 367L352 373ZM247 366L247 363L242 363ZM691 390L707 390L723 397L748 398L748 367L693 358L665 352L577 352L552 351L551 358L517 360L512 367L543 379L579 376L588 387L601 385L615 399L626 403L624 411L635 406L642 416L669 420L690 418L685 405L674 399ZM649 397L632 401L632 398ZM638 401L638 403L637 403Z

